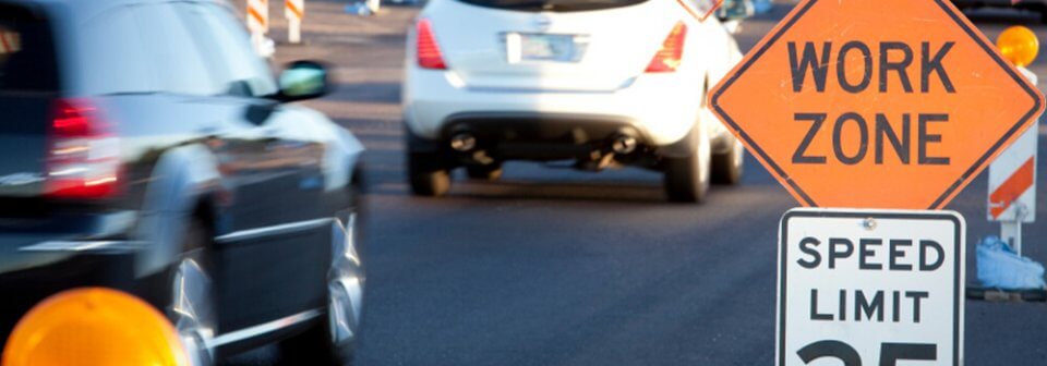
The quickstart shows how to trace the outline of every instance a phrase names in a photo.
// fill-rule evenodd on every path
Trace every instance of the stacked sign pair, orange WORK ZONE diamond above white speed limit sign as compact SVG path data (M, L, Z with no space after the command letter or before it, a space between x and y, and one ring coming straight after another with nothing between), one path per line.
M949 0L803 0L709 105L808 207L781 223L777 363L962 365L965 228L940 210L1036 87Z

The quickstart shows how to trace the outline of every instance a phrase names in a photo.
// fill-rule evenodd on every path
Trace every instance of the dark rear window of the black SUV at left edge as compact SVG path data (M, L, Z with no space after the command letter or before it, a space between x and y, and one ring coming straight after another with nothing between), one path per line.
M46 17L24 7L0 4L0 93L58 90L56 59Z

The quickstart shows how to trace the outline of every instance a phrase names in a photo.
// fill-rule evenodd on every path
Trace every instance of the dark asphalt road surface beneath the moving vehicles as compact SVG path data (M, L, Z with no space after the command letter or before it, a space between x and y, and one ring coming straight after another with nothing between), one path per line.
M338 90L308 105L369 149L360 365L772 364L777 228L797 205L755 159L741 185L714 186L700 206L665 203L653 172L538 163L509 163L498 183L460 174L446 198L412 197L399 83L404 32L417 9L357 17L340 2L308 2L308 44L280 45L277 59L332 63ZM742 46L789 9L746 22ZM1024 23L1047 39L1047 27L1030 16L973 19L990 38ZM281 40L280 20L275 27ZM1047 75L1047 58L1032 69ZM1045 148L1042 142L1042 156ZM1037 207L1047 219L1043 186ZM967 220L972 280L974 243L997 230L984 219L985 192L983 174L950 206ZM1047 224L1025 229L1026 254L1047 261ZM266 364L275 352L237 364ZM967 365L1044 365L1047 305L968 301L965 354Z

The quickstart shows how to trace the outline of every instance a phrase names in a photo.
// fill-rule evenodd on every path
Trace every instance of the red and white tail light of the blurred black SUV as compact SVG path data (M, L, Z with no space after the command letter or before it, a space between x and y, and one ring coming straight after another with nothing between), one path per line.
M110 125L85 100L55 102L46 158L46 194L52 198L107 198L117 194L120 146Z

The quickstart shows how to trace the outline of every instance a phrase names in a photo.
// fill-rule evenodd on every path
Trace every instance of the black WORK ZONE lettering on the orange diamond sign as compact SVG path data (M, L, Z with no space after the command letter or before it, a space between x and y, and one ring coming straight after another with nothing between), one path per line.
M843 46L826 41L789 42L789 62L794 93L814 90L819 94L931 94L956 93L944 60L955 42L941 45L920 42L916 47L900 41L881 41L870 46L849 41ZM917 54L918 53L918 54ZM835 84L829 83L835 73ZM877 82L874 87L874 80ZM808 83L813 81L813 83ZM828 89L833 88L833 89ZM869 98L875 103L876 98ZM918 103L916 103L918 105ZM803 111L794 120L807 123L807 133L796 144L792 161L797 164L827 164L830 159L846 166L919 164L948 166L950 159L934 152L942 143L936 131L949 123L949 113L879 112L863 115L851 111L830 114ZM935 129L938 126L939 129ZM813 150L818 139L828 139L831 151ZM870 144L871 143L871 144Z

